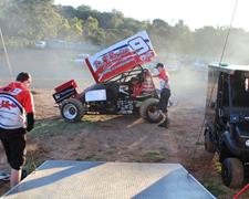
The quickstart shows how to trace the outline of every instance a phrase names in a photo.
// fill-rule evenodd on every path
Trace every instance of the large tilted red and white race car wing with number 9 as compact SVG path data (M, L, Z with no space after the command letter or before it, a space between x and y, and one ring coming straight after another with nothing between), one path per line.
M85 59L85 62L96 83L100 83L151 62L154 56L151 40L146 31L142 31Z

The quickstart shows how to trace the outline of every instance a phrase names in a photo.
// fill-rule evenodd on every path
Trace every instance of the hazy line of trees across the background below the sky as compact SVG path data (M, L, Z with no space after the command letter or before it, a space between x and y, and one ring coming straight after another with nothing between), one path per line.
M138 21L121 11L100 12L89 6L55 6L53 0L0 0L0 25L9 46L29 46L38 40L62 39L108 46L146 30L156 52L219 56L228 27L191 31L184 20L172 25L162 19ZM228 19L229 21L229 19ZM247 61L249 32L231 29L226 56Z

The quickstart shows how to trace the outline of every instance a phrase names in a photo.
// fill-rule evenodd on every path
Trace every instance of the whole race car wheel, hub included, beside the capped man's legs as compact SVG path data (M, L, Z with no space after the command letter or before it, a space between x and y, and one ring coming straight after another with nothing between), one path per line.
M157 98L147 98L144 101L139 108L141 117L149 123L159 123L163 116L157 107L158 102Z

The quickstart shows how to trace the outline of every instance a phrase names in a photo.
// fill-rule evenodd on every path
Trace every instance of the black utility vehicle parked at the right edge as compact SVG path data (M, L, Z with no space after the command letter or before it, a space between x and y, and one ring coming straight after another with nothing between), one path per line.
M218 153L226 186L241 187L249 164L249 65L210 64L205 148Z

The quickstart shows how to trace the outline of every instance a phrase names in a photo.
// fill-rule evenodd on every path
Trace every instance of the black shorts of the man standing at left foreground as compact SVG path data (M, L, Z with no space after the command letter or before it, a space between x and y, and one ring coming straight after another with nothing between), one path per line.
M25 129L0 128L0 139L11 168L19 170L25 161Z

